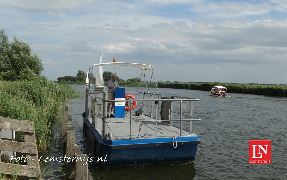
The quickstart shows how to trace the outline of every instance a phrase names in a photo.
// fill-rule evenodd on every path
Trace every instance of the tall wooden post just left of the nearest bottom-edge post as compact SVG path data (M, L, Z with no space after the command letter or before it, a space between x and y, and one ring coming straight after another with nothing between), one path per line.
M75 177L75 160L73 160L75 155L75 133L74 131L67 131L67 166L66 166L66 178L74 179Z

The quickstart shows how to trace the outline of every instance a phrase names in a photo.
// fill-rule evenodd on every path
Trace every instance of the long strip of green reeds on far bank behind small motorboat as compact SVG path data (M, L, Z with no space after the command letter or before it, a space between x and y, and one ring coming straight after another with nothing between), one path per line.
M201 91L210 91L215 85L226 87L227 92L287 97L286 85L232 84L219 82L158 82L159 88L191 89Z

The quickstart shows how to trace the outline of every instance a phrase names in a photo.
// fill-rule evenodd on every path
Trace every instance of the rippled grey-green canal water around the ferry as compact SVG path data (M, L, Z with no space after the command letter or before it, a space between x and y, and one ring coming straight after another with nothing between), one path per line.
M70 86L85 92L85 85ZM134 91L134 88L125 90ZM144 88L139 91L144 92ZM155 88L150 92L155 92ZM202 119L193 123L193 130L201 139L195 161L117 168L88 164L93 179L286 179L287 98L237 93L219 98L210 96L209 91L170 88L159 88L159 92L165 97L201 99L193 103L193 116ZM88 155L92 149L82 132L85 98L71 98L69 104L75 139L82 153ZM59 125L54 127L53 133L57 131L61 134ZM249 140L271 140L271 164L249 164ZM62 156L59 144L53 143L42 159ZM42 162L47 169L64 167L62 163L45 163ZM55 172L50 176L62 179L61 174Z

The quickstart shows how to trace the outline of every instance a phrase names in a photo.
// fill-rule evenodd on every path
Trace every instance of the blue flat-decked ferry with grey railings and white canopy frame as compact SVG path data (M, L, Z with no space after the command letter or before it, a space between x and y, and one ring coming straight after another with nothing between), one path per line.
M94 160L100 159L98 163L105 167L194 161L201 142L192 122L201 119L193 116L192 107L200 99L167 98L159 94L157 86L153 88L156 92L150 92L150 84L156 82L151 65L101 63L93 64L89 70L107 65L139 68L146 87L144 92L139 92L139 88L123 91L122 98L117 98L115 93L115 100L108 100L106 91L92 92L91 87L86 88L83 132L93 147ZM145 81L148 71L150 82ZM115 103L115 118L107 118L109 101Z

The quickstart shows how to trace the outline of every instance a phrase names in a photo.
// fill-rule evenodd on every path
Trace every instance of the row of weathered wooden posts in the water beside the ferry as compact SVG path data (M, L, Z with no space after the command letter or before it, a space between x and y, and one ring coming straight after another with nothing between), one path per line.
M62 144L63 155L71 158L83 158L77 143L75 143L75 133L72 127L72 116L68 111L68 104L65 106L64 119L62 119ZM86 156L87 159L87 156ZM66 179L67 180L92 180L92 176L88 169L88 164L83 161L66 162Z

